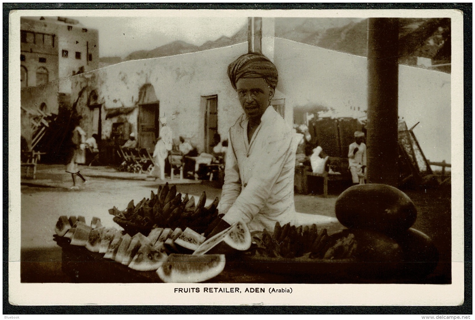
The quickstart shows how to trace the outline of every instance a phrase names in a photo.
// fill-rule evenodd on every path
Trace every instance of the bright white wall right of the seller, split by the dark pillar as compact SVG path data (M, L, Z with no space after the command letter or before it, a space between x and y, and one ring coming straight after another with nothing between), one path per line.
M340 117L364 115L366 58L285 39L275 40L274 57L287 109L322 105ZM450 74L399 66L399 117L409 127L420 121L414 133L432 161L451 159L450 97Z

